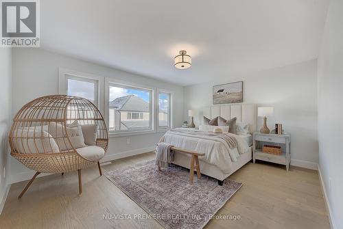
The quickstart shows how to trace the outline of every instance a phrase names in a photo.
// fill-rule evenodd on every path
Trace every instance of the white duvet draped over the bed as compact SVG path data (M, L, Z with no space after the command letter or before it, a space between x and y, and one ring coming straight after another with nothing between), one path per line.
M197 132L198 130L192 129L189 131ZM160 142L166 142L178 148L204 153L204 157L200 157L201 161L216 165L220 170L225 172L232 162L237 161L239 154L244 154L249 151L249 146L243 137L232 133L225 134L237 140L237 148L230 149L224 139L207 135L193 135L187 133L187 131L183 131L182 133L168 131L163 135Z

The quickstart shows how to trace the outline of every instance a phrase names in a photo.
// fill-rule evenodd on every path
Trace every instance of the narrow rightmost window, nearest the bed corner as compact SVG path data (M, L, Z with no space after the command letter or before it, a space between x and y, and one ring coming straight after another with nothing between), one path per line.
M158 127L170 128L170 93L158 93Z

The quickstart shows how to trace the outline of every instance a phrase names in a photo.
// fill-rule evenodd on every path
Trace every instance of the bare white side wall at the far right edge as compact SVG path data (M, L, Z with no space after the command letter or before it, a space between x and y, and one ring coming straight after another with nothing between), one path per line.
M319 167L331 223L343 228L343 1L331 0L318 58Z

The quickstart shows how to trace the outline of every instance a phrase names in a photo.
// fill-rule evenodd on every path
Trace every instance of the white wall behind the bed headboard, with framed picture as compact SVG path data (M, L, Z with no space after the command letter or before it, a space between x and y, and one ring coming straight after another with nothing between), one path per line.
M228 77L225 82L203 83L185 87L184 119L188 109L212 105L212 85L244 81L244 103L274 107L268 118L270 130L275 123L292 135L292 164L316 169L317 141L317 62L311 60L292 66L256 72L243 77ZM196 125L200 123L197 117ZM258 129L262 119L258 119Z

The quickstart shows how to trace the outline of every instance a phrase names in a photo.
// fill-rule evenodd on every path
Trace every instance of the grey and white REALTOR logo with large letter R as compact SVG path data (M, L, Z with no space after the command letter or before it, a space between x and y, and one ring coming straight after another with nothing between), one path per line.
M1 47L39 47L39 0L0 0Z

